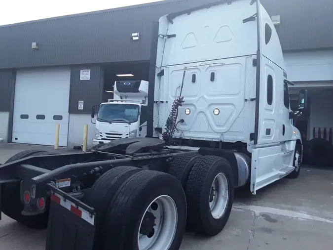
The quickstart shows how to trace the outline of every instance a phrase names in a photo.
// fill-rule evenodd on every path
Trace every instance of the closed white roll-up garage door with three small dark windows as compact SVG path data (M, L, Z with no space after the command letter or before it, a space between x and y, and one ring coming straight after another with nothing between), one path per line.
M18 70L16 73L12 142L67 146L70 68Z

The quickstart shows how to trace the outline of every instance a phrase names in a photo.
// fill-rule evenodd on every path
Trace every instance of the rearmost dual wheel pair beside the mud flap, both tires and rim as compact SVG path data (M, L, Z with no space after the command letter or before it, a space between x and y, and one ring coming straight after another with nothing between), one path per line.
M182 243L185 194L170 174L116 167L94 183L85 202L99 214L96 250L178 250Z

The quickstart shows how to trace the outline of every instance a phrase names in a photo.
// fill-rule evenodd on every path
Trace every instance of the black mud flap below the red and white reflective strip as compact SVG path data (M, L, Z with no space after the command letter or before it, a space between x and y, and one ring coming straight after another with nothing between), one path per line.
M45 250L92 250L95 226L51 201Z

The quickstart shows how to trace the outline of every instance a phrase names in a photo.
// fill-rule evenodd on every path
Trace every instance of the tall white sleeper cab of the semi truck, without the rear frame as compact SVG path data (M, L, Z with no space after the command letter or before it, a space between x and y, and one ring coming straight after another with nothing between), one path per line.
M237 182L256 194L298 175L302 142L292 123L293 83L270 16L259 1L228 2L159 19L154 136L178 148L235 150L237 160L248 156ZM306 99L300 91L302 109Z

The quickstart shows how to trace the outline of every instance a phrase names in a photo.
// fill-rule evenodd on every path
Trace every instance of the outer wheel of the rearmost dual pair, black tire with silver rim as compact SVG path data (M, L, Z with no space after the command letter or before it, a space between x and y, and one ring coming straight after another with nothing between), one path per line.
M178 250L186 224L185 194L172 175L140 171L128 178L109 204L101 250Z

